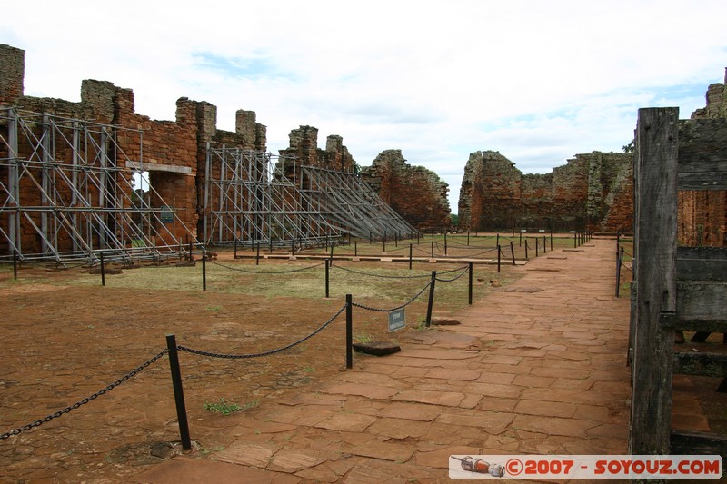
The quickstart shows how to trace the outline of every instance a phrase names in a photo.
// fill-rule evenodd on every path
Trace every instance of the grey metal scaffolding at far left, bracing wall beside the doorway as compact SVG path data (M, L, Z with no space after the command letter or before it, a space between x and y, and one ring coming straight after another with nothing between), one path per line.
M139 159L119 143L138 137ZM130 166L143 166L142 132L50 114L0 109L0 259L26 262L158 260L179 255L169 230L194 235L148 180L134 190ZM186 242L186 241L184 241Z

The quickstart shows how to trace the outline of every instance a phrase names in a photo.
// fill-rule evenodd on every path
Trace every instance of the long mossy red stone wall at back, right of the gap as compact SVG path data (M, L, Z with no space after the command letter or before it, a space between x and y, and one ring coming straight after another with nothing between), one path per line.
M624 199L632 155L582 153L546 174L523 174L502 154L475 152L464 169L459 200L462 230L588 227L632 230Z

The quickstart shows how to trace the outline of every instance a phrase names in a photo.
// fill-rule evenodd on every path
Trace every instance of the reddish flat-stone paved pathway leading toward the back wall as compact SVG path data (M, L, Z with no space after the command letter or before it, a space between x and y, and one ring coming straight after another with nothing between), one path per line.
M629 301L614 242L549 252L462 324L248 410L137 482L444 482L451 454L627 453ZM194 435L193 435L194 439Z

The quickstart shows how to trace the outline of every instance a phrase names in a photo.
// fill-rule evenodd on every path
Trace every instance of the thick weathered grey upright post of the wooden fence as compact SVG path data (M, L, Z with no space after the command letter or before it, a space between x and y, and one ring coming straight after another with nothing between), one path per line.
M639 110L634 166L636 316L629 453L670 450L679 108Z

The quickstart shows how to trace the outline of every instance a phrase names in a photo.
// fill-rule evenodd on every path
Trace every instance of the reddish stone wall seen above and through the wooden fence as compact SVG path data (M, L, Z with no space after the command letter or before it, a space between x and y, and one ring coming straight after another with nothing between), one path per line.
M710 84L706 106L691 119L727 118L727 69L724 84ZM725 140L727 143L727 140ZM685 245L727 246L727 192L679 192L679 242Z

